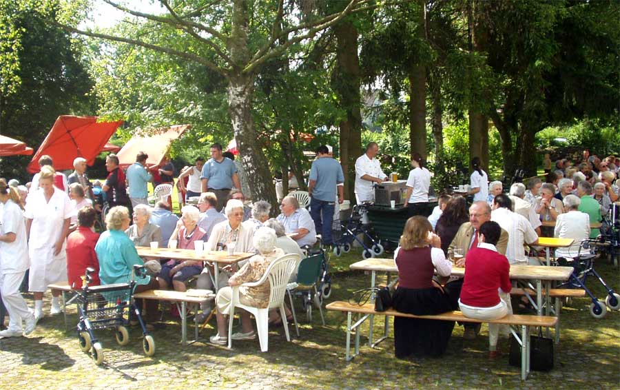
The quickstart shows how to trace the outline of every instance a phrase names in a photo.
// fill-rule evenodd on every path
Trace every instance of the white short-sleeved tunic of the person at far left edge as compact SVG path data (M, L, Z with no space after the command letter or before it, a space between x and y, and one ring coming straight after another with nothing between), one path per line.
M23 212L11 199L1 208L0 222L0 235L15 234L12 243L0 242L0 269L3 274L25 272L30 262Z

